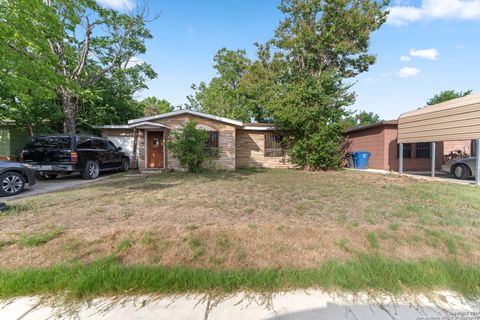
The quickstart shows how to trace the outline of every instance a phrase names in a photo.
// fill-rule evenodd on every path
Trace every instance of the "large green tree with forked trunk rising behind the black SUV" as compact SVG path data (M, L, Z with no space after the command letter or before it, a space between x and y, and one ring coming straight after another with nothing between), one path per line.
M129 67L132 59L145 52L145 41L152 37L146 27L146 7L119 13L94 0L0 0L0 6L4 9L0 12L2 28L9 32L0 36L8 54L0 60L0 68L35 61L32 69L16 67L3 74L0 81L8 90L5 94L13 95L27 112L32 107L29 97L39 94L29 92L26 80L16 87L9 84L18 78L30 79L34 82L30 88L44 92L42 98L51 99L54 93L63 112L65 132L76 132L83 99L91 103L104 98L93 94L101 92L105 79L115 81L121 74L144 82L156 76L145 62Z

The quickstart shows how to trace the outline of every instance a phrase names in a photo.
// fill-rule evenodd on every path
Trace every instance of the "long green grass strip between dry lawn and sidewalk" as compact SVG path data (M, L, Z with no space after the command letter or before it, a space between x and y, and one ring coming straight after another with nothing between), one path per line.
M358 255L347 262L328 261L315 269L222 271L183 266L124 266L115 258L104 258L88 265L0 271L0 298L32 294L86 298L126 292L273 292L311 287L389 293L449 289L477 297L480 268L456 261L405 262L378 255Z

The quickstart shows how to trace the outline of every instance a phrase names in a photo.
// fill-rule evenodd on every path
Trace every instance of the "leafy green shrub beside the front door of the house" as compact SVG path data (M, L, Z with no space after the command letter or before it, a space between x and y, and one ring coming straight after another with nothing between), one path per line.
M174 157L188 172L198 172L206 158L207 131L198 129L197 122L190 120L182 129L173 131L172 137L168 148L172 150Z

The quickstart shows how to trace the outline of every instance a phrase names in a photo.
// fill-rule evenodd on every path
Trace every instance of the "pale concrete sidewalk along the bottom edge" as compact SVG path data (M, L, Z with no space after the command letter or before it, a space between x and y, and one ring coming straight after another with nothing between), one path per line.
M60 302L61 299L42 301L38 297L1 301L0 319L480 319L480 301L466 301L449 292L437 292L428 298L374 298L307 290L215 299L208 295L182 295L102 298L63 306Z

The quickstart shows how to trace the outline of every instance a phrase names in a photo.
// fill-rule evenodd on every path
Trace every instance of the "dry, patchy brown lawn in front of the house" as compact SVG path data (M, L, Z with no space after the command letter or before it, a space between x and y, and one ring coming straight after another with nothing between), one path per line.
M480 190L352 171L118 174L10 201L0 268L90 262L316 267L355 253L478 264Z

